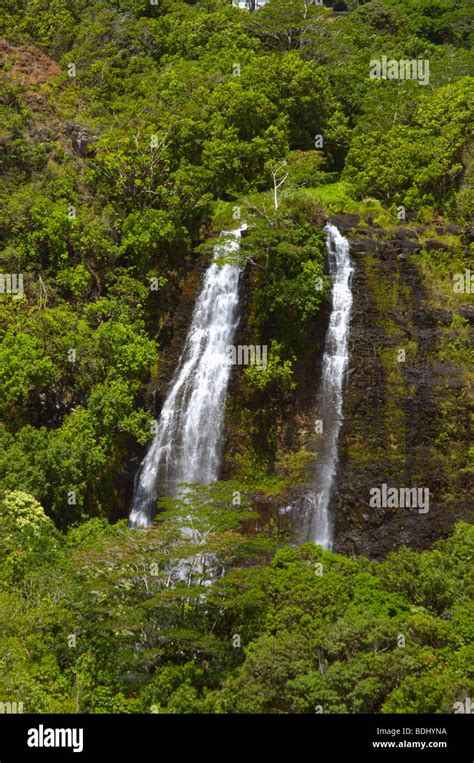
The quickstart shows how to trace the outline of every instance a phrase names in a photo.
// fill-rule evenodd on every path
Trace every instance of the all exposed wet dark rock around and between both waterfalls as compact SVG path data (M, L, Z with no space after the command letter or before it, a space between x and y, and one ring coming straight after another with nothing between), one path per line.
M418 254L425 249L421 243L426 237L423 226L388 230L364 224L355 215L334 216L331 221L349 238L355 265L344 423L331 507L334 547L340 553L371 558L383 558L403 544L428 548L449 534L456 521L469 520L473 514L474 473L467 462L468 379L463 365L441 351L454 313L427 291ZM456 226L449 226L449 230L447 225L439 227L439 235L459 234ZM191 258L174 288L156 296L153 325L160 332L160 371L144 391L145 403L155 413L161 408L178 362L206 264L202 258ZM236 344L249 343L252 289L252 269L246 268ZM255 407L250 406L241 396L242 368L233 370L223 479L235 476L239 454L248 447L254 429L262 440L260 443L255 435L256 445L263 447L269 439L267 413L280 417L278 444L284 454L314 451L315 398L329 312L329 304L320 311L309 343L311 354L299 357L295 365L297 389L278 411L265 395ZM472 327L471 306L460 306L457 315ZM403 361L398 359L400 350L406 354ZM118 476L117 493L127 496L127 502L117 516L128 511L133 477L144 451L136 449ZM308 474L306 482L290 479L281 493L255 497L261 521L275 523L287 533L289 542L296 542L292 518L304 511L311 468L309 465L303 472L303 480ZM428 489L428 512L371 506L371 489L384 484Z

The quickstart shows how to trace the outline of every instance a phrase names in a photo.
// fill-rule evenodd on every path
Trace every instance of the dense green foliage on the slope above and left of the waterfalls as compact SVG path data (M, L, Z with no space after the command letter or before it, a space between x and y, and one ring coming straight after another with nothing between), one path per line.
M255 14L224 0L3 5L2 267L24 273L26 299L0 305L0 484L66 526L110 512L115 475L150 437L141 384L217 200L257 224L254 338L279 358L254 380L267 390L291 387L324 296L313 288L324 247L308 227L318 205L292 200L302 185L342 172L355 200L463 216L470 11L455 0L353 2L336 17L303 0ZM31 42L53 62L28 57ZM371 81L382 53L429 58L429 85ZM265 189L279 163L276 213Z

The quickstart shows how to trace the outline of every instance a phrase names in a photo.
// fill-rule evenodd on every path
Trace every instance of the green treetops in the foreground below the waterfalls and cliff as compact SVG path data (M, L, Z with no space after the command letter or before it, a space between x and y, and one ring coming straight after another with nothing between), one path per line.
M95 519L65 536L31 496L8 494L4 701L25 712L439 713L470 696L472 527L383 563L307 544L265 564L268 540L239 532L252 514L236 487L168 500L147 532Z

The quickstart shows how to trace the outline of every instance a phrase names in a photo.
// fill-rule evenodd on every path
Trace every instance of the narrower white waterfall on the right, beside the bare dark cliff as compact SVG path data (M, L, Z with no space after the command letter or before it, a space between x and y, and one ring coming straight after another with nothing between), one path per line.
M333 280L332 309L317 395L316 422L322 422L322 432L316 434L319 441L314 489L304 499L301 537L304 541L312 541L324 548L330 548L333 522L329 503L337 472L338 437L343 419L343 383L349 360L351 280L354 269L348 240L330 223L326 225L325 231L329 273ZM315 431L318 432L317 427Z

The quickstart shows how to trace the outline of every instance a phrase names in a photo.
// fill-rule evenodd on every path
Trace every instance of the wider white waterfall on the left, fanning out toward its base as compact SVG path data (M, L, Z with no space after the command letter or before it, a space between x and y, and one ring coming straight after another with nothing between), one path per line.
M146 527L158 495L175 495L180 482L210 484L218 478L231 371L226 347L239 320L242 269L216 261L237 252L246 227L223 231L225 239L214 247L156 435L135 479L131 526Z

